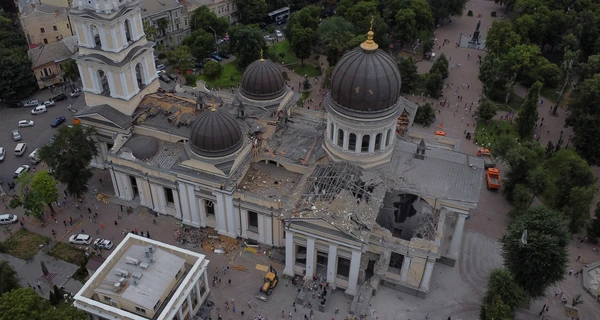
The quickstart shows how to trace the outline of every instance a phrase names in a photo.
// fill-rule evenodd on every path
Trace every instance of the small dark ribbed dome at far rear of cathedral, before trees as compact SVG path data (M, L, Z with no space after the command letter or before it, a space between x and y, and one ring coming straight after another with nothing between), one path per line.
M240 91L248 99L273 100L285 92L285 80L275 63L260 59L244 71Z

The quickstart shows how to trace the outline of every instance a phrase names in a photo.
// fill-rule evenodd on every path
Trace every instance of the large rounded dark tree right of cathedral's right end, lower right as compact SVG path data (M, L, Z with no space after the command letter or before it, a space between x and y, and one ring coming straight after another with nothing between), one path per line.
M527 208L501 242L504 265L531 298L543 297L563 279L569 232L560 213L543 206Z

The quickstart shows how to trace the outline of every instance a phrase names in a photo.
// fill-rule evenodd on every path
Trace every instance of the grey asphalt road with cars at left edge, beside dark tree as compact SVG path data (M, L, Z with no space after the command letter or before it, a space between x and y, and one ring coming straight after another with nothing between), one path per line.
M42 90L36 92L31 99L38 99L41 102L42 98L47 99L50 96L53 95L49 90ZM27 100L29 99L23 101ZM67 121L63 122L61 126L71 123L70 119L73 113L67 107L73 102L75 102L74 98L58 101L54 107L48 108L47 112L38 115L31 114L33 108L0 107L0 147L6 149L6 157L4 161L0 162L0 181L4 181L3 188L8 188L7 182L13 181L14 172L19 166L23 164L31 165L28 159L29 154L36 148L43 146L58 131L58 128L50 126L54 118L58 116L67 118ZM33 120L35 125L19 128L19 120ZM21 133L21 141L13 140L11 132L15 129L18 129ZM17 157L14 150L19 142L27 143L27 150L22 156Z

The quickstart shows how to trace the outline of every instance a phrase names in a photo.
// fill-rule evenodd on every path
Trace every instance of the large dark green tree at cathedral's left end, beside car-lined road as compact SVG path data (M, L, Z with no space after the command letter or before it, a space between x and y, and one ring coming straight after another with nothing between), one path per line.
M98 155L92 127L74 125L58 129L51 144L40 149L40 158L52 170L56 180L66 185L66 191L79 196L88 191L88 181L93 173L89 164Z

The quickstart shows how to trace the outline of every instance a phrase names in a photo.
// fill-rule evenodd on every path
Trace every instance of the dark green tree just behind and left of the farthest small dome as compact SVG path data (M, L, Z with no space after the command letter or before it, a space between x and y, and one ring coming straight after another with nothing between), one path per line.
M235 25L229 29L229 50L238 58L238 64L245 68L260 58L260 51L267 47L258 25Z

